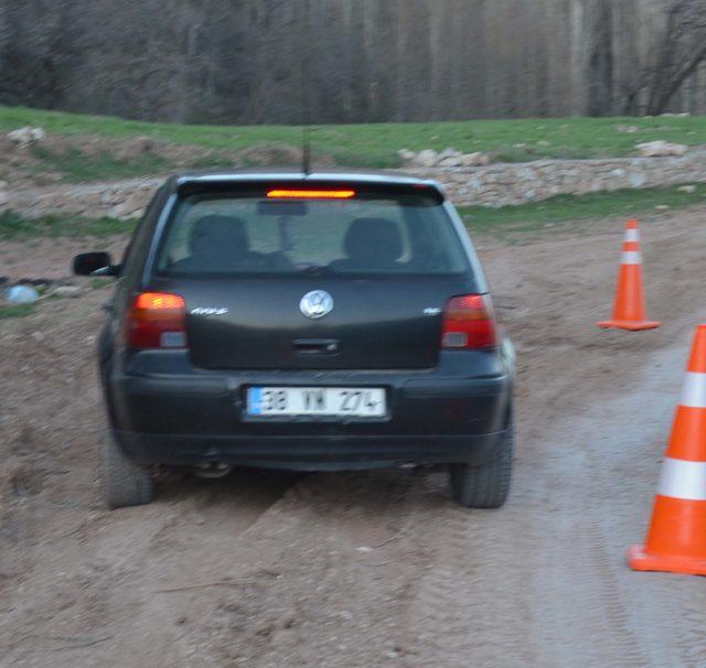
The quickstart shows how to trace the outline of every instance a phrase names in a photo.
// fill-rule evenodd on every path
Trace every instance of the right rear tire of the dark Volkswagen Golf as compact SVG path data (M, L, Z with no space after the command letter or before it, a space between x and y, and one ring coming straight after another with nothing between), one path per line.
M467 508L500 508L510 493L514 449L515 430L511 422L490 462L481 466L451 464L449 485L453 500Z

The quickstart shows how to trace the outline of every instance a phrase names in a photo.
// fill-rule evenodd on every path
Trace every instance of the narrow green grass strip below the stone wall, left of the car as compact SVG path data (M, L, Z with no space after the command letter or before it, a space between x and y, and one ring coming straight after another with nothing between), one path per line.
M39 237L108 237L132 231L136 220L116 218L81 218L76 216L42 216L23 218L13 212L0 214L0 240L25 240Z

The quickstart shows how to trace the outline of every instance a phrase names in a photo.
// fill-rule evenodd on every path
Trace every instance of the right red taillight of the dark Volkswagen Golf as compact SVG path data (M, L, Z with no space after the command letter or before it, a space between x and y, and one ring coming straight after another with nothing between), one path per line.
M488 294L452 297L443 310L443 348L491 348L498 345L498 327Z

